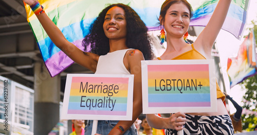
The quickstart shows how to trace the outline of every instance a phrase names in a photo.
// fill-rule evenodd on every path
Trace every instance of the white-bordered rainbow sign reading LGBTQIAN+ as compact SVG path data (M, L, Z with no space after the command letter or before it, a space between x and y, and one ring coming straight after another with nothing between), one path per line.
M143 114L217 111L214 60L145 60Z

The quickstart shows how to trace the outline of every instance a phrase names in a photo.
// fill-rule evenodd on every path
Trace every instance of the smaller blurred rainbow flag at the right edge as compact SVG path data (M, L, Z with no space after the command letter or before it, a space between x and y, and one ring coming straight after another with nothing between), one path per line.
M254 32L252 31L240 45L238 55L228 58L227 73L230 87L257 73L255 47Z

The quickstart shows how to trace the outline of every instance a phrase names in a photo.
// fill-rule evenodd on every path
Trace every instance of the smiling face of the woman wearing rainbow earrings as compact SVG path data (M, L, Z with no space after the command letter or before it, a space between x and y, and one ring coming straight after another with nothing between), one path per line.
M164 25L167 35L182 37L188 31L189 22L190 12L187 6L183 3L176 3L167 10L161 25Z

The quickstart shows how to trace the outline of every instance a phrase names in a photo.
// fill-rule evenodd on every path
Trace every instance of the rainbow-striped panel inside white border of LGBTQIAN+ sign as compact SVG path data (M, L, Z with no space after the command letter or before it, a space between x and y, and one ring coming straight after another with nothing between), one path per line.
M211 106L208 64L148 65L149 107Z

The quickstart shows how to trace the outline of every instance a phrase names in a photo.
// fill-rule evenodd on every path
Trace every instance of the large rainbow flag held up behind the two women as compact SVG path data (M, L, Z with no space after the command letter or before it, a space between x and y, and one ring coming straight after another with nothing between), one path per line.
M131 6L145 22L149 31L153 31L159 29L156 25L158 22L157 17L164 0L40 0L39 2L67 40L83 50L81 41L88 34L88 27L91 22L106 7L106 4L123 3ZM189 3L192 4L194 9L194 16L190 25L206 26L217 1L191 0ZM240 37L244 30L248 3L249 0L233 1L223 27L224 30L229 31L237 38ZM25 8L27 20L34 33L46 67L52 77L56 76L74 61L54 45L30 7L25 5Z

